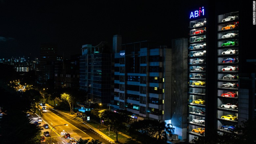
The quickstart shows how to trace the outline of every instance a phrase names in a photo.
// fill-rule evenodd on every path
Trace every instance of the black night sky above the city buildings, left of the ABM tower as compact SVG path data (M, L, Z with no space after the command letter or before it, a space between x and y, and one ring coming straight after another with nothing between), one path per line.
M198 4L197 4L198 5ZM69 58L85 44L122 35L122 43L144 40L171 45L187 35L187 8L182 1L38 1L0 0L0 59L39 57L40 45L56 45Z

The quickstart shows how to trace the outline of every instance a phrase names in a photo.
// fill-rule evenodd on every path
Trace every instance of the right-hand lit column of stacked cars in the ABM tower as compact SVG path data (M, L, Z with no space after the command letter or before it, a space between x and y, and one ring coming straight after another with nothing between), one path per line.
M239 13L218 15L217 128L223 134L238 126Z

